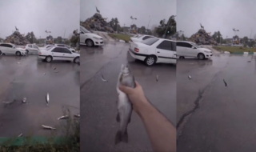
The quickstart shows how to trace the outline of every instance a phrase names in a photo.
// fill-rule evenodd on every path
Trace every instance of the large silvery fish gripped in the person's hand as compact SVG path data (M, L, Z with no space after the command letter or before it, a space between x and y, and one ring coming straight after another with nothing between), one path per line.
M127 126L130 123L130 117L133 111L132 103L128 98L128 95L123 93L118 89L118 86L129 86L131 88L135 87L134 75L131 74L129 66L126 64L121 66L121 72L118 76L118 112L116 116L116 121L119 122L118 132L115 135L114 143L117 145L119 142L128 142Z

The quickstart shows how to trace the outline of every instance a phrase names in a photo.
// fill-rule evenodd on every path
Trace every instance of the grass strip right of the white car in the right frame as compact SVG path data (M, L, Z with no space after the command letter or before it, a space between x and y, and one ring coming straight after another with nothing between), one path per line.
M243 52L255 52L256 49L239 46L213 46L215 50L228 51L230 54L243 53Z

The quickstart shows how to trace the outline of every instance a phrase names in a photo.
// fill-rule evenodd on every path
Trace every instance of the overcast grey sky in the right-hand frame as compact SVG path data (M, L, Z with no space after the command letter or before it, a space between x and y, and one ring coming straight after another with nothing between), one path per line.
M254 38L256 34L255 0L178 0L177 30L183 30L187 37L200 29L206 32L220 31L222 36L232 38L234 29L239 38Z

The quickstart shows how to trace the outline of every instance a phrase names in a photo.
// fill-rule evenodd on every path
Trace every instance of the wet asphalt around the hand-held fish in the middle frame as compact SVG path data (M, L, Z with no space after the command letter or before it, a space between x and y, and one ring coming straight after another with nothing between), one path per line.
M127 54L128 48L129 44L122 42L81 47L81 142L85 143L81 144L81 151L152 151L142 121L134 112L128 126L129 143L114 146L118 130L116 84L122 63L129 62L146 97L176 124L176 67L168 64L145 66ZM158 82L155 80L157 74ZM102 75L108 82L102 82Z

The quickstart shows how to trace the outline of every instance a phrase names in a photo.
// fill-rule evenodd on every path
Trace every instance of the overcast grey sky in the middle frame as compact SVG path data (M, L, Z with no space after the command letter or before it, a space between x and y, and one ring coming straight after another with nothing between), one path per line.
M103 18L118 18L121 26L130 26L130 16L137 18L134 20L136 26L159 25L160 20L169 19L171 15L176 14L176 0L80 0L81 1L81 20L84 22L87 18L96 13L97 6Z

